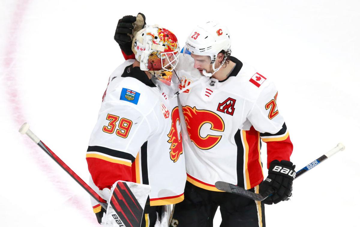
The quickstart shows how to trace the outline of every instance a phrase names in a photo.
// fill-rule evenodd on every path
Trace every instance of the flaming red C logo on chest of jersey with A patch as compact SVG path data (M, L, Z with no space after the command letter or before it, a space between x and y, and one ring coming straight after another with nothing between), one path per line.
M225 124L222 118L210 110L198 110L194 106L183 106L183 113L185 117L186 128L189 133L190 140L202 150L208 150L214 147L222 136L207 135L202 137L200 135L201 127L210 123L210 130L224 132Z

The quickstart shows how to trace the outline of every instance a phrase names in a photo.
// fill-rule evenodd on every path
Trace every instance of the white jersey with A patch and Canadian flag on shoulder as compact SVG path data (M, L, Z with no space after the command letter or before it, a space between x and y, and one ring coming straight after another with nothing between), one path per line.
M203 78L179 95L187 180L203 189L219 191L216 181L246 189L263 181L261 141L267 142L268 162L289 160L292 143L276 105L278 92L268 78L234 57L236 63L224 81ZM181 87L200 73L190 55L177 66Z

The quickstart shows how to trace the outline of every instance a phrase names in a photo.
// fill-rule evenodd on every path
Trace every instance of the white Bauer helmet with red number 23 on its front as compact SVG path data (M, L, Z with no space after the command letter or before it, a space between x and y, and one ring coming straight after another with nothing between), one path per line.
M188 36L185 47L186 52L189 51L190 53L196 55L210 56L210 64L212 64L214 72L206 73L204 70L203 74L205 76L212 76L212 74L218 71L221 67L220 66L215 69L217 54L219 54L222 50L227 52L231 49L229 29L216 22L201 24L197 26Z

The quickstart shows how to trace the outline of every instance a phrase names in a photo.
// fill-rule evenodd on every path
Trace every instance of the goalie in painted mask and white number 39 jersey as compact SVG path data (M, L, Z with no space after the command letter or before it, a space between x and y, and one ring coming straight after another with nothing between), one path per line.
M166 95L179 87L172 73L180 49L172 32L146 25L136 33L132 51L136 60L126 60L109 78L86 160L90 181L104 197L118 180L150 185L141 223L148 227L159 222L163 205L184 199L179 108ZM104 209L93 208L101 223Z

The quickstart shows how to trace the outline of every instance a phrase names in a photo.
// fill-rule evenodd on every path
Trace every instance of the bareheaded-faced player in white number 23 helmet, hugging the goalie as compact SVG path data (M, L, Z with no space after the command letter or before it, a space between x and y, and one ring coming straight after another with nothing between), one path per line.
M120 41L126 54L125 43ZM268 78L230 56L230 34L225 26L208 22L196 27L184 49L177 74L188 132L183 137L187 183L185 199L176 205L171 224L212 226L220 206L221 227L265 226L264 203L287 200L294 179L293 145L277 108L278 92ZM261 140L267 144L269 174L265 181ZM221 192L216 181L257 193L273 187L276 193L260 203Z

